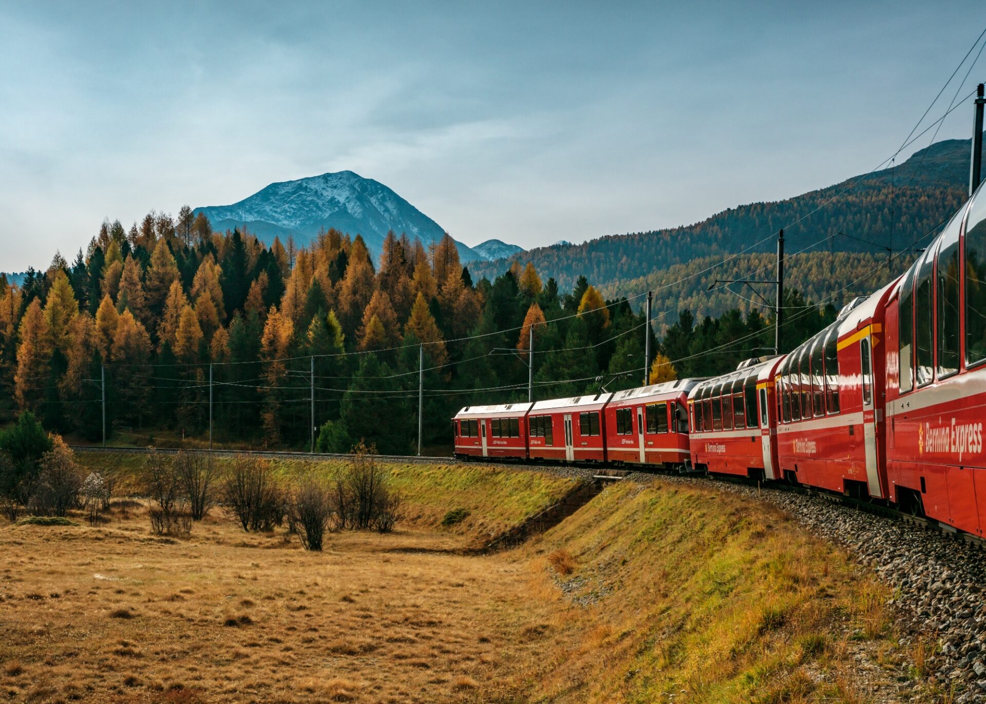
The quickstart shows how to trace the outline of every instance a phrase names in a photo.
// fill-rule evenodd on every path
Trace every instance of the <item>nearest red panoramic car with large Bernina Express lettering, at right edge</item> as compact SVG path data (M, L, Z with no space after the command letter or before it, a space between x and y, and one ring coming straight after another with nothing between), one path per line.
M986 530L986 188L952 217L886 306L890 499Z

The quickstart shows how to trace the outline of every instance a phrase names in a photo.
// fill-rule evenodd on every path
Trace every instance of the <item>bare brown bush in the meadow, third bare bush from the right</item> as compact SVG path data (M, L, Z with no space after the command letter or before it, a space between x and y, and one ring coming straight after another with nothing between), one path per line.
M288 502L266 459L234 458L223 493L227 512L244 530L273 530L284 523Z

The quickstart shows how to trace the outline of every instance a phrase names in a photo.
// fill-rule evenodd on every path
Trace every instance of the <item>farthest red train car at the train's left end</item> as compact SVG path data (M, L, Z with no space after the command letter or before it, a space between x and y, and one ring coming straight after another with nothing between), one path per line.
M453 419L456 457L528 458L531 403L465 406Z

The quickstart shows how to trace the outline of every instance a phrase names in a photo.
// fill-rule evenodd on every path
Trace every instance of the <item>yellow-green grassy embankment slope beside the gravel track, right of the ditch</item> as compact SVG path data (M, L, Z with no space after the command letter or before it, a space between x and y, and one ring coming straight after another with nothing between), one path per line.
M858 701L861 650L868 677L907 673L887 590L729 492L612 487L517 559L557 608L531 700Z

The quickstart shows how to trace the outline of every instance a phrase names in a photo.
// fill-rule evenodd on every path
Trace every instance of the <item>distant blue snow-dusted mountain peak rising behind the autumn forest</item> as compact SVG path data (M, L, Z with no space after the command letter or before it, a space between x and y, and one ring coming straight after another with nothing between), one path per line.
M195 208L215 230L246 227L264 243L293 235L299 244L313 240L321 229L335 228L353 237L362 235L374 256L387 231L420 238L425 246L438 242L445 230L380 181L350 171L271 183L232 205ZM463 261L484 258L457 243Z

